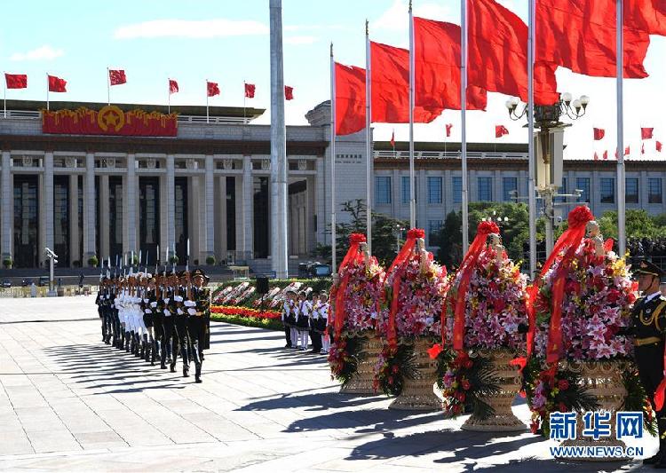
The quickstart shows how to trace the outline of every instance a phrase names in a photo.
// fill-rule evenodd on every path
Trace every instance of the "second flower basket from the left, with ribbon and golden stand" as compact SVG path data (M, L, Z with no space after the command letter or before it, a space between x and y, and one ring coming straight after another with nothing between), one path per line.
M395 395L390 409L436 410L437 364L428 356L440 333L441 304L448 290L446 268L424 248L424 231L412 229L386 273L379 332L385 346L376 367L376 387Z

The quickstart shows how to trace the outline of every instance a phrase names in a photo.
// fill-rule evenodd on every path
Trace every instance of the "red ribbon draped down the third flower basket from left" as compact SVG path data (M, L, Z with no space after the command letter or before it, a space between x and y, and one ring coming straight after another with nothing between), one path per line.
M476 237L472 241L472 245L467 250L463 258L463 263L460 264L460 282L456 292L456 304L454 306L454 319L453 319L453 348L456 351L463 351L464 341L464 309L465 309L465 296L467 296L467 289L470 286L472 279L472 271L474 265L481 254L481 250L486 247L486 241L490 233L499 233L499 227L495 222L482 221L477 228ZM444 340L444 326L446 321L446 304L442 306L441 313L441 333L442 343Z

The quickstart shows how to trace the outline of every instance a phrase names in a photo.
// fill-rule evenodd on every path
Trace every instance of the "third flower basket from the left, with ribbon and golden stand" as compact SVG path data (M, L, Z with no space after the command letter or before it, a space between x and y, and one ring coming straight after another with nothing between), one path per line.
M525 350L526 287L527 278L507 256L497 225L481 222L448 293L444 335L458 353L443 379L445 407L456 415L472 405L464 430L527 428L511 410L522 381L512 362Z

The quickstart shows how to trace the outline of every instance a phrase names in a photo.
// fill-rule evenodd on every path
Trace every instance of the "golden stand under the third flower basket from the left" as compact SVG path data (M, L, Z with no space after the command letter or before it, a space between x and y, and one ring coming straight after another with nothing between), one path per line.
M483 357L492 359L499 393L491 398L481 398L492 407L495 414L487 419L481 419L479 413L474 412L461 426L463 430L476 432L517 432L526 430L527 426L513 414L511 405L520 390L521 375L519 367L511 365L515 353L506 349L476 351L471 358Z

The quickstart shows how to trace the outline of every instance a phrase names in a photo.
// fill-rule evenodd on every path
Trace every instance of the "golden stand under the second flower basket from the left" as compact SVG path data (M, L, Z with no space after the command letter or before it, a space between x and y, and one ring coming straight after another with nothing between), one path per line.
M393 399L389 409L401 411L436 411L442 408L441 399L434 393L437 381L437 360L431 359L429 338L417 337L414 342L416 356L415 379L405 378L402 392Z

